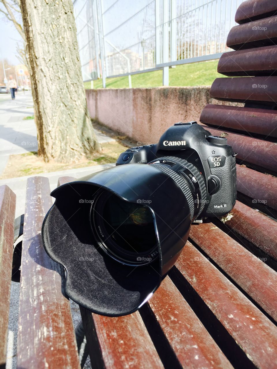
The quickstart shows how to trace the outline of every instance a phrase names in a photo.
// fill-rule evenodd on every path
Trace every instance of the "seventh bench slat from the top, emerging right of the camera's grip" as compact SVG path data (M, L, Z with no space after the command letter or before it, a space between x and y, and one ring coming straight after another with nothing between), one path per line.
M244 200L249 198L249 201L246 201L247 205L276 218L276 177L256 172L244 165L237 165L237 191L243 194Z

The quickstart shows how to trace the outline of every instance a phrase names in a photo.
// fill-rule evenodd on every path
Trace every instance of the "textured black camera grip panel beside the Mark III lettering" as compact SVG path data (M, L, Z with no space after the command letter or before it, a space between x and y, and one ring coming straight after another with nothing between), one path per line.
M220 216L227 214L236 202L236 158L227 156L225 165L220 168L211 168L211 174L219 177L220 190L211 196L206 216Z

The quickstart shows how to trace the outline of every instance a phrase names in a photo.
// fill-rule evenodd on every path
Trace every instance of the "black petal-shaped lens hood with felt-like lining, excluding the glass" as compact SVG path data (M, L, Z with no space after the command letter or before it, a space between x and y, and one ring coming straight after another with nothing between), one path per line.
M99 247L91 230L93 197L105 189L153 214L159 256L152 263L120 263ZM187 241L190 211L178 184L144 164L120 165L55 189L55 203L42 225L47 254L66 270L65 293L95 313L119 316L136 311L158 288Z

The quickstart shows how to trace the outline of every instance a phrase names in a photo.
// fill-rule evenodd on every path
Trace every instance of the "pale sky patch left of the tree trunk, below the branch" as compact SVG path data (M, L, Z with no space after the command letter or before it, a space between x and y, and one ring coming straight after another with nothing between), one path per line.
M22 38L13 23L0 13L0 59L8 59L11 64L20 64L16 55L16 43Z

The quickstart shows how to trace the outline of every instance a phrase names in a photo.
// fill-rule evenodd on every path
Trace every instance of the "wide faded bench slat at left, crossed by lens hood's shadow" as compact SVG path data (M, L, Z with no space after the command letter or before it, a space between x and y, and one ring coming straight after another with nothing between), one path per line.
M27 180L22 243L17 364L19 368L80 368L64 269L46 254L41 225L52 205L45 177Z

